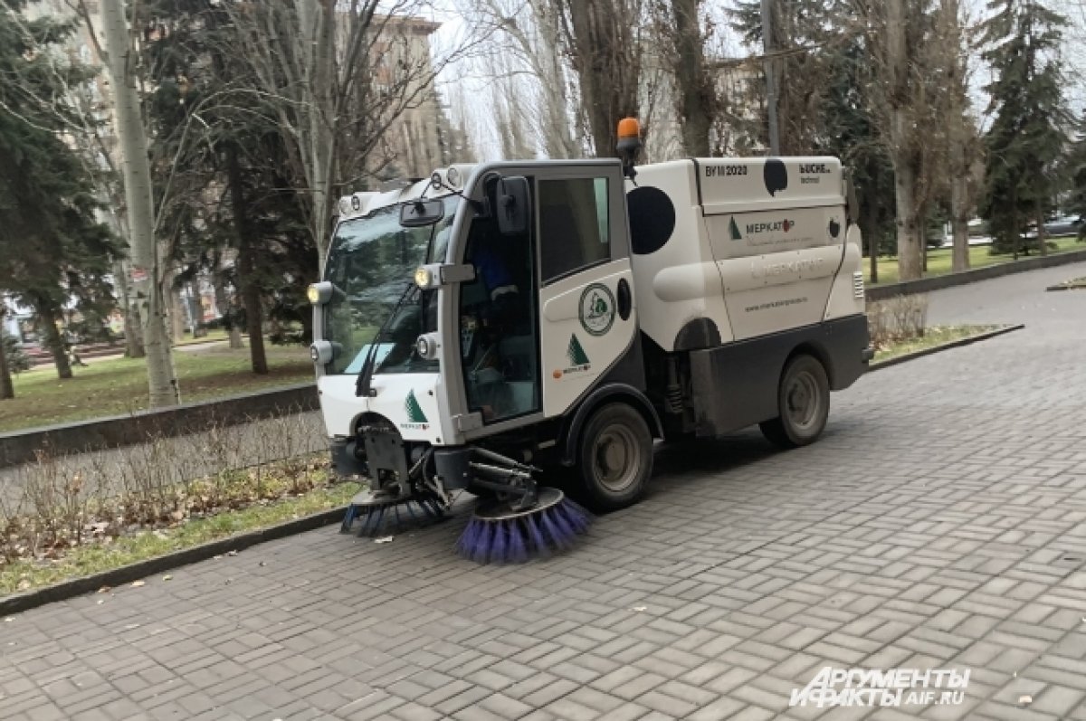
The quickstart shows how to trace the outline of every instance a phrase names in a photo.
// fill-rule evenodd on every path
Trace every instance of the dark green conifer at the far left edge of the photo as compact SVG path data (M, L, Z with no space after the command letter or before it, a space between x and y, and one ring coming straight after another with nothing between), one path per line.
M112 303L106 282L123 250L96 218L87 166L62 139L75 119L63 100L89 74L58 61L74 29L21 16L26 0L0 0L0 290L33 307L61 378L70 378L58 328L70 302L85 315Z

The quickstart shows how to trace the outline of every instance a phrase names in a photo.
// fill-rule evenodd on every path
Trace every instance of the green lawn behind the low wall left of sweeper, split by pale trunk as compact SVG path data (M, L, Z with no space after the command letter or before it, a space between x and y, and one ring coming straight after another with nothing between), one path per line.
M175 350L181 401L209 399L313 381L313 362L300 345L266 344L268 375L250 370L249 349L225 343ZM117 416L147 408L147 365L142 358L90 358L60 380L52 365L13 378L15 397L0 401L0 431Z

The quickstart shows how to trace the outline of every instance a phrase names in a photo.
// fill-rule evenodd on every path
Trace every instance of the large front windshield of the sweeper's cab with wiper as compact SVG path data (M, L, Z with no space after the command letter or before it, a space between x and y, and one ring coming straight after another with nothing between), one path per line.
M396 317L378 344L374 371L438 371L437 360L415 353L419 334L438 328L437 291L420 291L413 279L418 266L445 260L459 199L450 195L443 202L444 217L425 228L402 227L399 205L336 228L325 273L337 289L325 306L324 336L334 349L327 372L361 372L370 341L394 311Z

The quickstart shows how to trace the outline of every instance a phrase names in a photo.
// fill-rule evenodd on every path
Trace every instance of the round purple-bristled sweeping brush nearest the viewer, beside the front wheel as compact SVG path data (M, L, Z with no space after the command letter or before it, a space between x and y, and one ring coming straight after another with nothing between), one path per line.
M561 491L541 488L539 502L528 510L480 502L456 552L477 564L522 564L571 548L591 523L592 515Z

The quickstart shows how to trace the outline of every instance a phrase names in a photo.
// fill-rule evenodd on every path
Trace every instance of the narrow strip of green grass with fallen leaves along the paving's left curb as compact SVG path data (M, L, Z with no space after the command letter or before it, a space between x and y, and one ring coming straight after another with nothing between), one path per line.
M76 546L53 560L18 559L8 565L0 561L0 595L121 568L174 551L345 506L357 492L357 483L338 483L291 498L192 519L173 528L122 535L108 544ZM168 578L167 574L161 580L149 582L157 583L167 581Z

